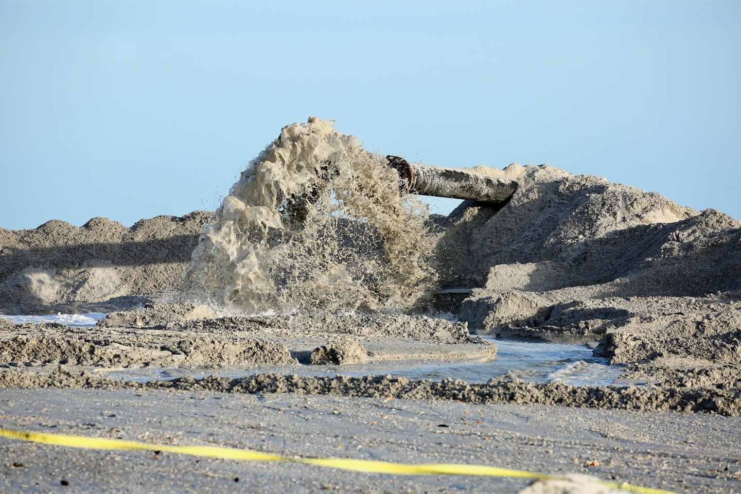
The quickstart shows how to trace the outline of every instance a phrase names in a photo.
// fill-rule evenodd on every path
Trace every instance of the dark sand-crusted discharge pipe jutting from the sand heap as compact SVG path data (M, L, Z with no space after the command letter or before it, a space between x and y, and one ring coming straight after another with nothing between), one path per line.
M399 156L386 156L388 166L402 179L402 193L420 196L504 202L517 189L517 182L471 173L459 168L410 163Z

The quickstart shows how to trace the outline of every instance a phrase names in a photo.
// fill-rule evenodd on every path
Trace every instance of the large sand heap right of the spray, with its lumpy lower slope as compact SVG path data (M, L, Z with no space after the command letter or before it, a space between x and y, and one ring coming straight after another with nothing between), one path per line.
M511 201L461 204L439 238L472 332L604 340L617 363L741 362L740 221L546 165L494 173L518 181Z

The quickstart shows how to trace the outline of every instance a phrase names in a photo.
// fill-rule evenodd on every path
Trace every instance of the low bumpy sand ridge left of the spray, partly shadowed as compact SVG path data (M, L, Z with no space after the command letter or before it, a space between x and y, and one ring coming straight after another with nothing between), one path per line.
M0 313L110 312L177 290L210 216L0 228Z

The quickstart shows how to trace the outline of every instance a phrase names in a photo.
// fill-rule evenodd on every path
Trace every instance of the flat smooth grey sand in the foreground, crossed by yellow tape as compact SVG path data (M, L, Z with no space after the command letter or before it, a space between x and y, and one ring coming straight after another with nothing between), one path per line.
M39 432L585 473L677 492L741 490L741 419L719 415L166 390L5 389L1 399L4 427ZM0 439L0 451L5 492L516 493L531 482L352 473L7 439Z

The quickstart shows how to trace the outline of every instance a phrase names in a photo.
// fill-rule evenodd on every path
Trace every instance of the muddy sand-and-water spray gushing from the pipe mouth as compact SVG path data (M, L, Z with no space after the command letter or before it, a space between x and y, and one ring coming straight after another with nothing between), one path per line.
M288 125L205 225L182 293L249 311L407 310L436 281L426 218L357 138Z

